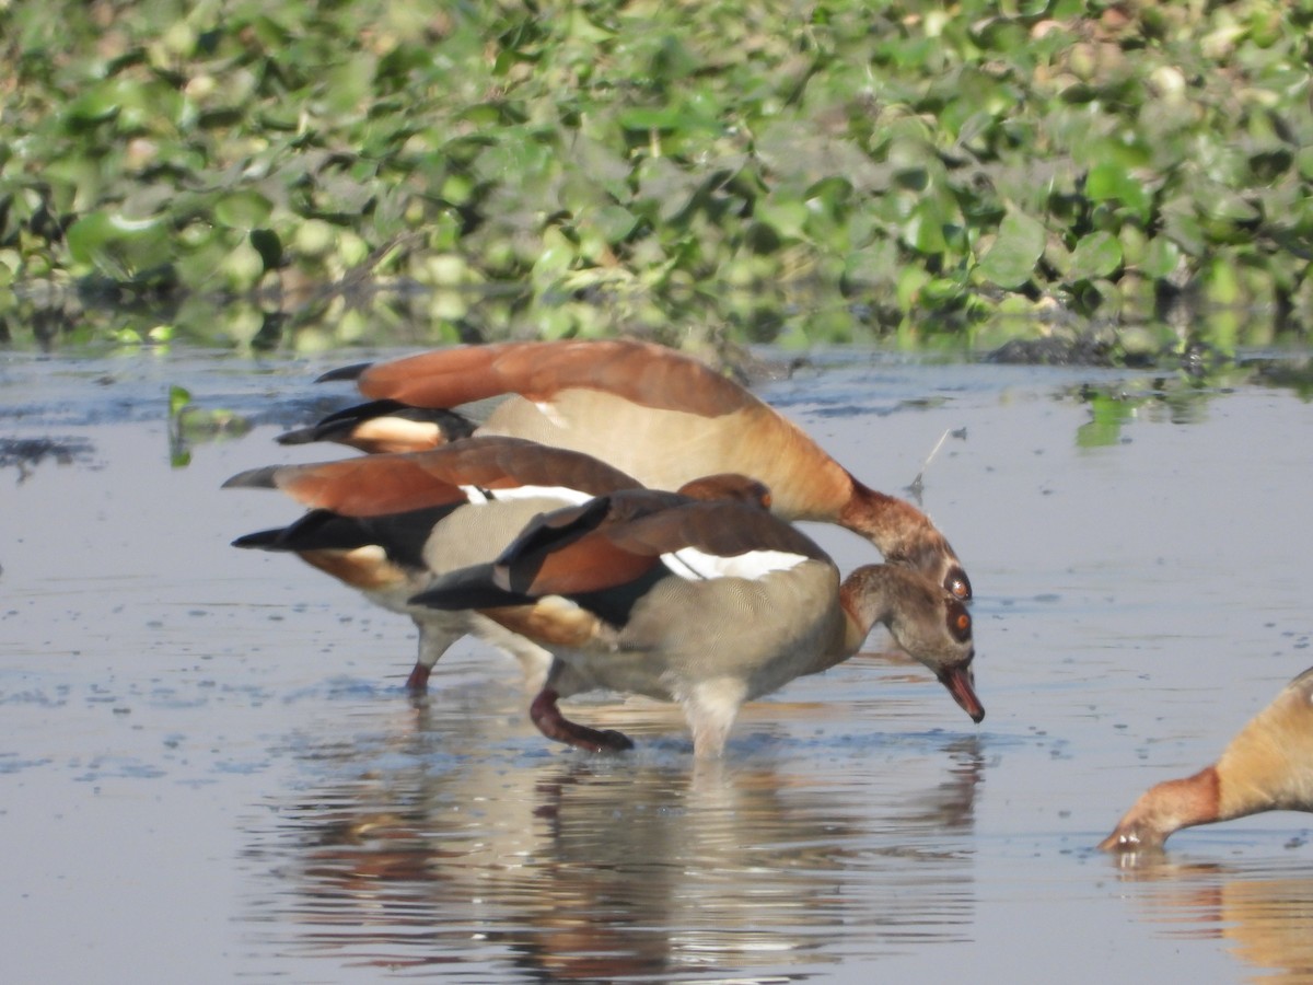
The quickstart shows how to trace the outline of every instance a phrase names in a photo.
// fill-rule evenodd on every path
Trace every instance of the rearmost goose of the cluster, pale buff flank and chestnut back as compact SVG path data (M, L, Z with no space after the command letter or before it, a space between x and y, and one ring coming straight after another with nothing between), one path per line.
M886 561L926 574L958 599L972 595L961 562L923 512L863 485L776 410L672 349L633 340L470 345L347 366L326 380L355 380L366 397L412 407L517 394L479 433L586 452L650 489L714 473L752 475L769 486L777 516L838 523L871 540ZM381 429L389 418L368 412L364 420ZM343 427L334 439L355 443ZM429 440L441 437L431 431Z

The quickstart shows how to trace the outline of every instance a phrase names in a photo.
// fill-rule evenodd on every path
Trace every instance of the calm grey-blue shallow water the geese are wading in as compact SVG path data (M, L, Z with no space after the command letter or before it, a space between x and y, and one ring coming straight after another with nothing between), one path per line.
M708 766L637 701L579 712L634 754L546 743L473 642L414 703L404 620L227 546L297 515L227 475L336 457L272 443L349 399L309 383L336 362L0 364L0 437L68 450L0 469L11 980L1313 977L1308 816L1133 868L1091 850L1313 663L1309 403L869 353L764 385L886 491L965 428L924 506L977 591L989 714L877 633L750 705ZM259 426L171 468L169 383ZM1120 427L1082 383L1128 394Z

